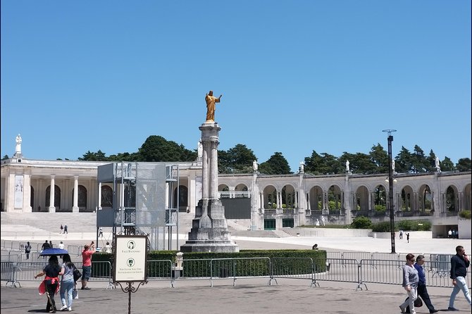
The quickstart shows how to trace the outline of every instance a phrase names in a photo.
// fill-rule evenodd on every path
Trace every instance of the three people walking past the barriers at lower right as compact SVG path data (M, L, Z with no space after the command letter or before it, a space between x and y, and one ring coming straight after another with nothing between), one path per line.
M400 310L402 313L411 313L415 314L415 301L418 299L418 296L421 296L426 307L430 313L437 313L439 310L436 310L433 304L431 303L430 296L428 294L428 289L426 289L426 276L423 268L425 263L425 257L418 255L416 257L411 253L406 255L406 264L403 266L403 282L402 287L406 290L408 298L400 305ZM447 310L457 311L457 308L454 308L454 301L456 299L459 291L462 290L464 296L468 303L472 306L471 294L468 291L466 275L467 268L470 265L468 256L464 246L456 247L456 255L451 258L451 271L450 277L452 279L452 289L451 296L449 298L449 306Z

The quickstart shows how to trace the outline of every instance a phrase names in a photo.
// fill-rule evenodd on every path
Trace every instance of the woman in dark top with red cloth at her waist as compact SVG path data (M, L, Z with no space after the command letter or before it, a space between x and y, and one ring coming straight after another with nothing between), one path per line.
M61 272L61 266L59 265L57 256L51 256L49 258L49 263L44 266L42 272L39 272L35 276L44 277L43 282L39 285L39 292L46 292L47 304L46 312L47 313L56 313L56 302L54 302L54 294L58 291L59 287L59 274Z

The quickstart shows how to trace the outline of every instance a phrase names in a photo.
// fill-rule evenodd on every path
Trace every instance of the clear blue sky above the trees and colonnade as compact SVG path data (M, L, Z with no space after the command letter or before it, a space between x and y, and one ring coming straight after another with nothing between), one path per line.
M196 149L216 96L219 149L414 145L471 157L471 1L1 1L1 156Z

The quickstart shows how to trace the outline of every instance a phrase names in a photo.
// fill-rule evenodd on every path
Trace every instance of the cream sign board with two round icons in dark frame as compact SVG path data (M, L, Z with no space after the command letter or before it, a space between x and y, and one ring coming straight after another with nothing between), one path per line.
M147 236L115 237L113 282L147 282Z

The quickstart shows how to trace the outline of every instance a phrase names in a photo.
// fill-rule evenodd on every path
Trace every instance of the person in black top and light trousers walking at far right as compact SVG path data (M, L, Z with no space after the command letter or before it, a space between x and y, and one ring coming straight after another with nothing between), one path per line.
M454 301L456 300L459 290L464 292L468 304L472 306L471 294L468 291L466 282L467 268L470 265L471 262L468 260L464 246L456 246L456 255L451 258L451 279L454 288L452 289L451 297L449 298L449 307L447 310L458 310L457 308L454 308Z

